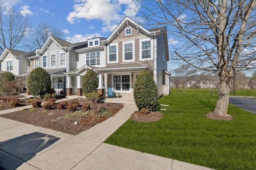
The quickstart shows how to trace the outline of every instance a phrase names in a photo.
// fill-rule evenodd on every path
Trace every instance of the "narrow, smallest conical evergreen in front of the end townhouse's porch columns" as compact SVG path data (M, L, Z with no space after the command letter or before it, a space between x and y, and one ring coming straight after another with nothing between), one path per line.
M83 78L83 92L84 95L95 92L98 88L98 77L94 70L88 70Z

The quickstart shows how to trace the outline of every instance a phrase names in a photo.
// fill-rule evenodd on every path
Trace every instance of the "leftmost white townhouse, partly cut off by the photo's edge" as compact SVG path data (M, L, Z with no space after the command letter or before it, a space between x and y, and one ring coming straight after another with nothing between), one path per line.
M35 51L24 52L14 49L5 49L0 56L1 71L9 71L12 72L16 78L23 78L25 88L30 66L26 58L34 55Z

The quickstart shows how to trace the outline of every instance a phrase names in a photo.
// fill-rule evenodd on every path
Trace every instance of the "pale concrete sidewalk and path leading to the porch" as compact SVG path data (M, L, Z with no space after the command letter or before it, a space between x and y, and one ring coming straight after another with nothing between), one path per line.
M137 110L133 99L105 102L126 104L115 116L76 136L0 117L0 170L210 170L103 143Z

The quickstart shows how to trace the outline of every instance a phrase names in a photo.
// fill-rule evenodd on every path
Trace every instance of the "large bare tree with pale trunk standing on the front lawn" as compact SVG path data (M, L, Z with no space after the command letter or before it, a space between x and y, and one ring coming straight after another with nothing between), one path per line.
M179 42L169 48L173 61L218 74L214 112L226 116L233 76L256 68L256 1L134 2L140 9L138 15L142 14L148 24L167 25L170 38Z

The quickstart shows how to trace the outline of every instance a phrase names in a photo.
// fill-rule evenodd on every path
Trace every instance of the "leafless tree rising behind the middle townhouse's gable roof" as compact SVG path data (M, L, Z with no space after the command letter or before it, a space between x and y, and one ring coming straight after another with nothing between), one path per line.
M64 39L65 37L64 32L61 31L58 27L50 23L40 22L28 37L26 46L30 50L40 49L49 35L59 39Z

